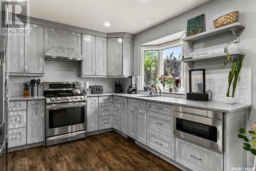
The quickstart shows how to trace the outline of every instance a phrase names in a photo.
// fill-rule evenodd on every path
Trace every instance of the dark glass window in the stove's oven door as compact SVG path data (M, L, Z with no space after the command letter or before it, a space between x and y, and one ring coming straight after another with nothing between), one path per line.
M84 107L49 110L49 129L84 122Z

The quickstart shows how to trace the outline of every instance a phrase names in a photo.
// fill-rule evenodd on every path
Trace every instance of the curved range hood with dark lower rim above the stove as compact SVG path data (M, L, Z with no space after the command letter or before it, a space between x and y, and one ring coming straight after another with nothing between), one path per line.
M73 48L52 47L45 54L46 60L80 62L82 55Z

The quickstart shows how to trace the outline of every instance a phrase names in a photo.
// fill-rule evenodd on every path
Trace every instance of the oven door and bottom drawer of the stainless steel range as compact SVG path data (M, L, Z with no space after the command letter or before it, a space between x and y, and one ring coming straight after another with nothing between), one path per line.
M46 104L46 146L86 137L86 104Z

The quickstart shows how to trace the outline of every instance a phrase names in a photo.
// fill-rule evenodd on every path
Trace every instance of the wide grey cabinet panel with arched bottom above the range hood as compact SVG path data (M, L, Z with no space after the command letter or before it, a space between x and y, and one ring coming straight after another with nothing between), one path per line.
M81 33L45 27L45 50L46 52L53 47L75 49L81 53Z

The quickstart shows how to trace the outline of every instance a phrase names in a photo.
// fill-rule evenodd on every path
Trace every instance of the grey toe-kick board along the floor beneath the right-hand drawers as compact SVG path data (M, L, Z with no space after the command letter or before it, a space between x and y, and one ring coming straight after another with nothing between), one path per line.
M138 142L138 141L136 141L136 140L135 140L135 143L138 144L139 146L145 148L147 151L153 153L154 155L160 157L161 159L167 161L167 162L170 163L170 164L173 164L174 166L176 166L176 167L178 167L178 168L180 168L180 169L182 169L182 170L184 170L184 171L193 171L193 170L191 170L191 169L189 169L189 168L187 168L187 167L181 165L180 163L174 161L173 159L170 159L170 158L168 158L168 157L162 155L161 153L155 151L155 149L152 149L151 147L148 147L148 146L146 146L146 145L144 145L144 144L142 144L142 143L140 143L140 142Z

